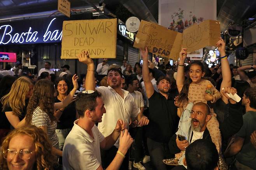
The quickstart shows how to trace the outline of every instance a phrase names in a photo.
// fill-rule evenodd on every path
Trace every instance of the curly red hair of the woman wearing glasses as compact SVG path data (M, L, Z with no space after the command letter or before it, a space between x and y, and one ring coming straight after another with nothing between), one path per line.
M46 133L41 128L35 126L26 126L13 130L5 137L4 142L2 143L2 151L6 151L9 147L11 139L19 134L30 136L35 144L36 162L34 169L52 170L54 166L52 146ZM8 169L7 161L5 160L3 153L0 154L0 169Z

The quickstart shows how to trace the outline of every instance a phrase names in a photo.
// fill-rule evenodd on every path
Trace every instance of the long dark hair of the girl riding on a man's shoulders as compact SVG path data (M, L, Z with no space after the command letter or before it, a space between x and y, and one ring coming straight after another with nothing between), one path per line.
M190 70L190 67L192 65L198 65L201 67L202 69L202 72L204 72L204 69L203 69L203 63L200 62L200 61L193 61L191 62L191 64L189 64L189 68L188 70ZM181 93L179 94L178 96L178 102L182 103L184 101L187 101L188 100L188 90L189 90L189 85L192 83L192 80L190 77L187 78L187 80L185 80L184 84L183 84L183 87L181 89Z

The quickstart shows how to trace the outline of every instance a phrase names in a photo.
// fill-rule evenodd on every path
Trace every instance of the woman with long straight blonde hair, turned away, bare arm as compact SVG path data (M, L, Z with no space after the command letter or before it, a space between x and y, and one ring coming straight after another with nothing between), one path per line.
M28 77L22 76L12 84L10 92L2 97L3 112L14 128L25 125L23 119L32 93L33 83Z

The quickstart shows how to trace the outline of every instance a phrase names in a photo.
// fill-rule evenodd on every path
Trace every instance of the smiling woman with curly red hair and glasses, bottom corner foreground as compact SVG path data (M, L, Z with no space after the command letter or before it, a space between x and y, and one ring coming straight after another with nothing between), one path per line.
M35 126L13 130L2 143L0 169L52 170L53 152L46 133Z

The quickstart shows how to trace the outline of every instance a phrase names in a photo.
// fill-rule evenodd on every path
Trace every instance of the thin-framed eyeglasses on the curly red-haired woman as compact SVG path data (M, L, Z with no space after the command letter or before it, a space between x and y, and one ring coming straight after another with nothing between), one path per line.
M21 158L22 160L28 160L32 153L34 153L34 152L30 152L28 150L16 151L15 149L7 149L7 151L3 151L4 158L11 159L11 160L14 157L14 155L16 155L16 154L18 154L19 158Z

